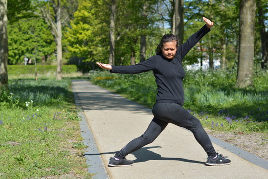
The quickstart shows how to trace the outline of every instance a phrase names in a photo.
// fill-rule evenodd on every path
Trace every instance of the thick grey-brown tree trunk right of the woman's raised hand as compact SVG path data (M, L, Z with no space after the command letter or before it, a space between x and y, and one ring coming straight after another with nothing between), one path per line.
M255 0L240 0L237 72L237 84L240 88L250 86L253 83L255 12Z

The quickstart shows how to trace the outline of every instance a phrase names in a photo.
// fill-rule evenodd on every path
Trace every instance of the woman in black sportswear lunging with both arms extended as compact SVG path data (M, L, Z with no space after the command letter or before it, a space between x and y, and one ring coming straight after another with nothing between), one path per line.
M111 73L135 74L152 70L157 84L156 103L153 106L154 115L147 130L140 137L132 140L123 149L110 159L108 166L131 166L133 161L125 157L153 142L156 137L165 129L167 124L173 123L193 132L196 140L207 153L206 165L228 165L230 160L216 153L211 141L204 131L199 119L184 109L183 78L185 72L182 66L182 59L195 46L195 44L210 31L213 22L203 17L206 23L199 31L193 34L187 42L178 47L178 39L175 35L167 34L161 39L157 47L157 54L136 65L111 66L97 62L98 66Z

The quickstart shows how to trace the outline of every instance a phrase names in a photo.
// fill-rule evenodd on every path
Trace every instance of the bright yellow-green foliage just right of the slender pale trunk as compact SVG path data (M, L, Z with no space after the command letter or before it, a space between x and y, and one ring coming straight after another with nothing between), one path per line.
M105 61L108 58L108 9L103 1L79 0L74 19L67 28L67 57L81 61Z

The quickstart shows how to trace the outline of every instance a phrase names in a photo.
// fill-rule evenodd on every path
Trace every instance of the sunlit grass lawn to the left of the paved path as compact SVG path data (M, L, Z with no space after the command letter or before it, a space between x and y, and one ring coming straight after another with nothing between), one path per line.
M0 105L0 178L91 178L69 80L11 79Z

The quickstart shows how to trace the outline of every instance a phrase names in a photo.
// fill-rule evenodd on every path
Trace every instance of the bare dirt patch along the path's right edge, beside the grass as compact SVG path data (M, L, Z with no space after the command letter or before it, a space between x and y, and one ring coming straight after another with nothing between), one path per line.
M218 132L206 129L207 134L268 160L268 134Z

